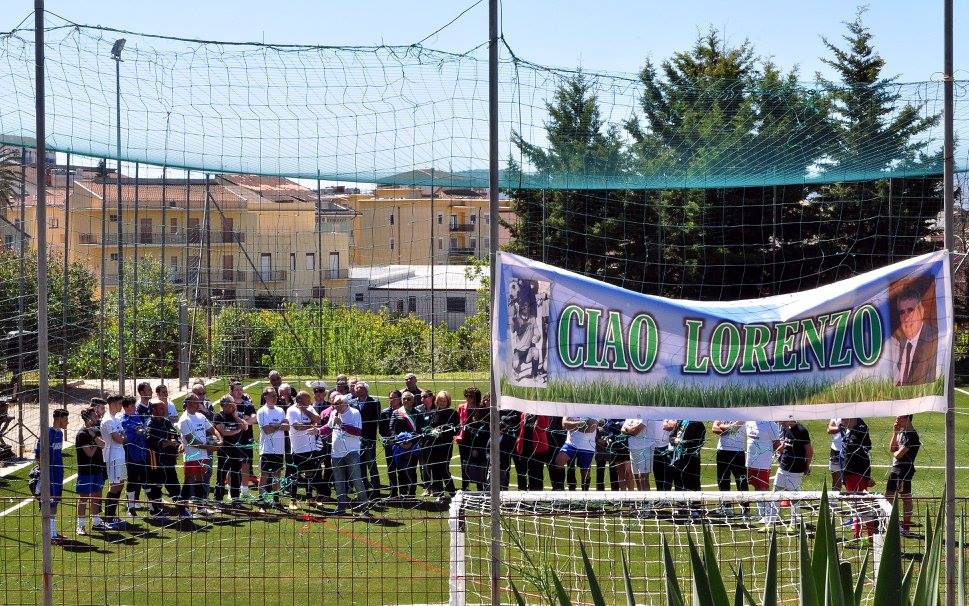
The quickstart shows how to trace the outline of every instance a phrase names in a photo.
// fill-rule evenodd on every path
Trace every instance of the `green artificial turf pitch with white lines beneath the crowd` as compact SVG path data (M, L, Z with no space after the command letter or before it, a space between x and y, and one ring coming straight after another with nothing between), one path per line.
M302 382L290 381L297 388ZM371 392L383 400L397 387L393 383L371 380ZM448 389L454 399L468 385L487 391L487 378L471 375L443 375L437 381L422 380L427 389ZM247 391L258 400L265 385L259 382ZM225 390L224 382L208 388L215 399ZM969 434L969 395L957 393L957 435ZM72 409L73 410L73 409ZM887 442L891 419L868 419L875 447L872 461L884 466L888 461ZM806 423L818 458L827 453L828 437L821 421ZM923 414L916 417L923 441L919 454L919 472L915 477L918 495L937 497L942 494L943 418ZM70 438L72 438L71 436ZM69 438L69 439L70 439ZM704 486L712 486L715 439L708 434L704 450ZM378 447L378 461L382 454ZM820 489L829 479L818 472L805 481L804 488ZM958 453L960 496L969 497L969 488L961 481L969 470L969 452ZM65 476L75 470L72 450L65 452ZM884 489L887 467L876 467L878 485ZM452 460L452 473L459 475L457 453ZM27 496L26 471L0 479L0 511L22 502ZM512 485L515 485L514 471ZM70 502L73 482L65 486L65 502L58 516L59 531L70 540L54 548L55 601L64 604L427 604L448 600L449 534L446 509L433 503L389 505L375 511L372 518L333 518L331 510L301 509L295 512L229 513L196 519L187 524L154 526L144 519L129 531L93 533L74 537L74 507ZM922 507L925 505L923 504ZM934 504L933 504L934 507ZM593 517L594 518L594 517ZM671 542L682 544L683 526L664 520L629 520L626 524L604 524L593 518L581 522L536 523L533 518L509 519L529 552L539 561L547 561L564 576L581 576L581 565L575 558L577 538L584 538L600 577L607 580L607 591L621 591L619 551L622 545L629 553L638 591L648 591L641 600L651 603L662 590L663 575L656 556L658 533L664 532ZM519 523L520 522L520 523ZM486 553L487 521L468 524L468 552ZM737 563L749 563L745 576L759 576L759 554L766 552L767 535L741 525L719 525L714 528L723 571L730 573ZM30 503L0 516L0 603L33 604L40 602L40 526L37 507ZM518 550L507 540L506 564L519 560ZM648 543L646 547L637 544ZM782 537L780 552L782 570L795 567L793 537ZM921 541L906 540L905 549L917 557ZM685 560L682 550L677 559ZM860 552L856 552L860 556ZM477 558L475 558L477 559ZM468 601L484 588L475 584L476 575L486 575L486 561L469 568ZM684 566L680 577L688 569ZM514 576L519 576L515 571ZM869 573L870 574L870 573ZM477 576L483 579L482 576ZM573 580L580 584L580 581ZM791 579L782 585L792 587ZM756 582L754 583L756 586ZM531 587L533 599L538 589ZM614 593L615 600L619 594ZM507 596L510 599L510 596ZM608 599L608 598L607 598ZM615 600L608 600L610 602Z

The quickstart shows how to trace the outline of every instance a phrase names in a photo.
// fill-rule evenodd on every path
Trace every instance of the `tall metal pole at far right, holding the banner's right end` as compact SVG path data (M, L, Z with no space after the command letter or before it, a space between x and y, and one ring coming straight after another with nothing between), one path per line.
M944 244L946 253L952 260L955 244L952 232L953 198L955 194L955 141L952 125L952 0L945 0L945 67L942 75L945 97L943 112L944 155L943 166L943 204L945 215ZM953 271L950 262L950 272ZM955 279L949 276L950 284ZM948 309L950 324L953 322L952 298L949 297ZM945 602L947 606L956 604L956 410L955 410L955 357L952 344L949 349L949 367L946 369L946 412L945 412Z

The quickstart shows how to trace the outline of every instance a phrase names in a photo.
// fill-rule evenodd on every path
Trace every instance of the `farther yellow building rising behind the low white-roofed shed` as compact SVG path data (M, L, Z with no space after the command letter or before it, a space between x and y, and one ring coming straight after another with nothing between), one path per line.
M428 182L431 171L414 173ZM442 182L456 180L434 173ZM406 182L411 174L400 177ZM504 213L508 208L502 204ZM357 213L350 245L354 267L463 264L471 257L486 257L491 247L487 190L386 186L371 196L352 196L348 205Z

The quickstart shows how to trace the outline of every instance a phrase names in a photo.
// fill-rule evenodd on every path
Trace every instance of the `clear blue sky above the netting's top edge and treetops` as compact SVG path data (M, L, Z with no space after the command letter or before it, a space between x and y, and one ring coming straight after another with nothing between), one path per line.
M7 0L7 23L31 10L30 0ZM11 10L17 4L21 10ZM957 78L969 78L959 30L967 14L955 14ZM411 44L468 10L424 44L463 51L484 42L488 2L481 0L47 0L47 10L87 25L145 33L227 41L323 45ZM964 6L964 5L963 5ZM821 63L821 36L838 39L843 21L858 5L844 0L504 0L501 31L515 53L553 67L636 72L647 57L661 61L683 50L698 33L715 27L732 43L749 39L757 53L783 68L798 66L800 78L830 75ZM886 74L902 81L939 80L942 71L941 0L872 1L865 21L887 61Z

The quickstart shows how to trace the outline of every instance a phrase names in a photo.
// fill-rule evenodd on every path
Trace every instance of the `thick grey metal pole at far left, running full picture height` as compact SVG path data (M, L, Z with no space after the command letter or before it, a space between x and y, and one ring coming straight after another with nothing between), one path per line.
M34 0L34 62L37 119L37 403L40 412L40 532L43 561L43 603L53 602L54 563L51 554L50 419L47 385L47 137L44 120L44 0Z

